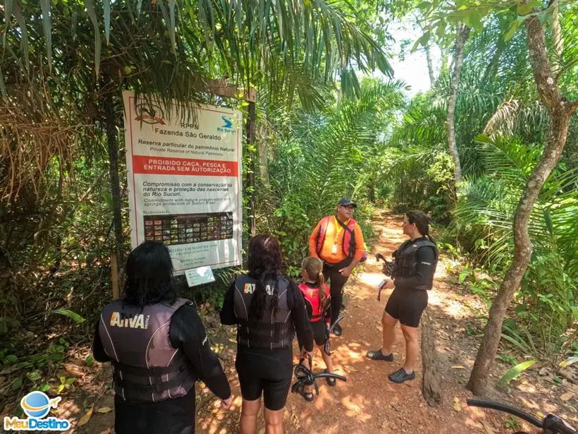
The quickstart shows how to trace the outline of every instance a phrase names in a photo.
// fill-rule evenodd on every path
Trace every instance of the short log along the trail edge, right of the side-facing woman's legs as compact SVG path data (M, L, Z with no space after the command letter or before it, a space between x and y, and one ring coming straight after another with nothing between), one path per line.
M426 309L422 316L422 368L424 382L422 393L429 406L438 406L442 402L441 375L439 367L438 350L436 349L436 337L433 334L431 318Z

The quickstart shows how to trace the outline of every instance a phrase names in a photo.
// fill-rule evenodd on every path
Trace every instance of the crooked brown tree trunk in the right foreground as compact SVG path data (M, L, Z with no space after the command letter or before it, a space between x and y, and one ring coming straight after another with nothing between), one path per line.
M488 325L479 347L472 375L467 388L474 394L482 394L488 383L488 374L493 365L500 344L503 318L512 300L515 290L524 277L530 257L531 243L528 233L528 222L534 201L543 184L554 169L566 143L570 116L578 107L578 102L567 102L558 90L558 83L553 77L550 61L546 52L544 30L536 17L526 20L527 42L530 63L534 72L534 81L538 88L540 100L548 109L550 126L546 137L546 147L534 171L528 179L522 198L520 198L514 217L514 260L506 272L498 290L498 295L490 309Z

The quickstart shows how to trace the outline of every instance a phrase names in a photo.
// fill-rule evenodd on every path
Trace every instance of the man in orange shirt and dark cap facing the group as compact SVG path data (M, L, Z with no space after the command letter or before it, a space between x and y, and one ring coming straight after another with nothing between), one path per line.
M323 261L323 275L330 281L331 325L339 318L345 282L364 256L363 234L352 219L356 207L350 199L341 198L336 215L323 217L309 237L309 255ZM342 332L339 324L333 327L337 336Z

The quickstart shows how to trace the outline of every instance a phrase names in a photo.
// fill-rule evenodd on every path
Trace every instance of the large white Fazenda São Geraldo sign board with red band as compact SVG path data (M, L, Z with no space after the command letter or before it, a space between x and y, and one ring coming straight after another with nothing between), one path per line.
M176 104L135 100L128 91L123 99L133 248L164 243L181 275L240 265L240 111L199 105L192 122Z

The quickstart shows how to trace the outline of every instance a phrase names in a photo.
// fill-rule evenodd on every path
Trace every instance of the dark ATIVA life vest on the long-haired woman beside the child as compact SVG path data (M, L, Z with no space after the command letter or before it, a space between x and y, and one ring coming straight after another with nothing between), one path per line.
M273 315L269 306L273 290L277 288L278 308ZM257 280L247 275L235 279L233 308L237 318L237 343L247 348L279 349L288 348L293 341L295 327L287 303L289 280L286 277L266 285L266 306L269 311L262 313L259 320L250 320L249 312Z

